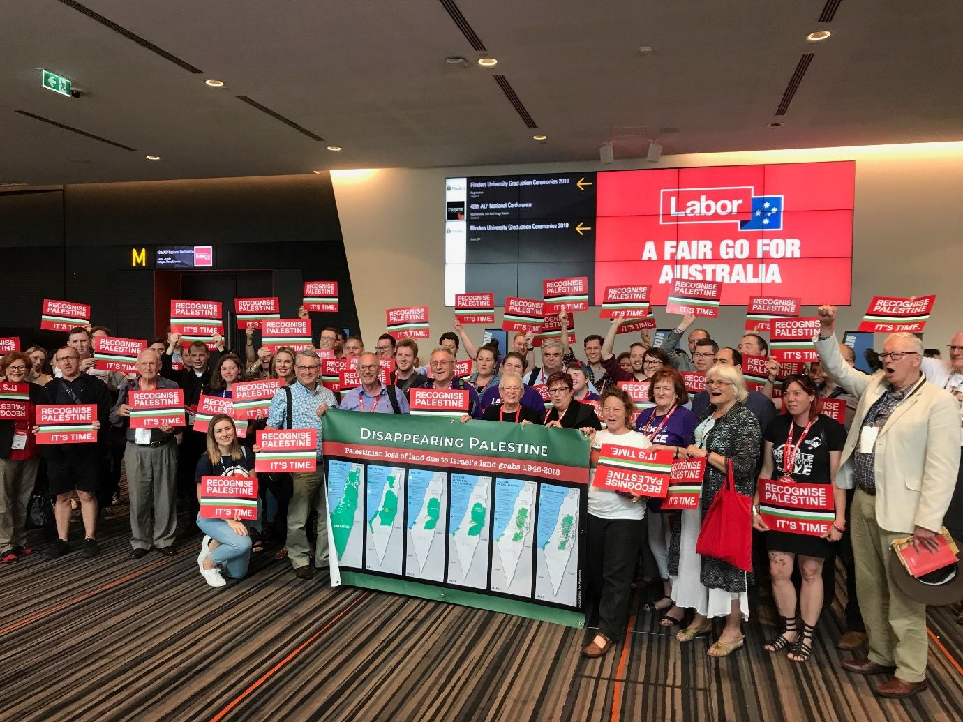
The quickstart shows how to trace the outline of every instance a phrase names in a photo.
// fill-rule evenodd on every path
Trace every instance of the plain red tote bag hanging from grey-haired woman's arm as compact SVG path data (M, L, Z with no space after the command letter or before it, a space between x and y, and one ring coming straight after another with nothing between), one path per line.
M695 553L752 571L752 498L736 491L731 461L726 463L725 483L702 519Z

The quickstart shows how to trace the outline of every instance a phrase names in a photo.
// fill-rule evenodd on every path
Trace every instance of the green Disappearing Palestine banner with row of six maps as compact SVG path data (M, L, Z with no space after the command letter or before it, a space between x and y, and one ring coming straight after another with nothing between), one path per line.
M324 451L332 586L585 625L580 431L331 410Z

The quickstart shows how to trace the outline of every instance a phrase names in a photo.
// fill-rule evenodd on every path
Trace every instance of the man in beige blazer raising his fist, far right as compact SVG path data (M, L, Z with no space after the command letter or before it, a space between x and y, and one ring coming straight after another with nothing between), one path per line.
M880 355L883 370L863 374L840 355L836 307L820 306L819 314L815 341L822 368L859 400L836 483L856 489L849 522L869 658L843 666L891 675L876 692L909 697L926 687L926 606L903 594L890 576L890 545L912 534L919 546L936 548L960 460L956 402L926 383L916 336L889 336Z

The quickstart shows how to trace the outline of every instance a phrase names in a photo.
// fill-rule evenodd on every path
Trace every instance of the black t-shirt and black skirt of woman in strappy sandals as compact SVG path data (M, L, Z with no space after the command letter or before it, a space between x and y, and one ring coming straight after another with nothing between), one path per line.
M789 436L790 425L793 425L793 445L798 443L799 436L805 426L793 424L793 417L780 414L766 427L764 438L772 443L772 476L783 476L783 450ZM809 433L802 442L802 447L796 451L793 461L793 480L800 484L830 484L829 452L843 451L846 443L846 429L839 422L828 416L817 417L816 422L809 428ZM832 542L819 536L808 534L792 534L788 531L767 531L766 548L770 552L788 552L816 556L824 559L832 554Z

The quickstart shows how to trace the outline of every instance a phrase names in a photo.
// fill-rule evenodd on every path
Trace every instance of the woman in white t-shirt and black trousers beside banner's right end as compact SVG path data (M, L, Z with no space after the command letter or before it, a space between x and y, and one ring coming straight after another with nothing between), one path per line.
M599 452L604 444L646 449L652 443L632 430L635 403L618 388L602 394L602 420L608 428L591 430L592 446L588 486L588 594L598 603L599 631L582 654L602 657L612 649L612 640L625 627L632 578L636 571L638 547L642 539L645 499L625 492L610 491L592 484Z

